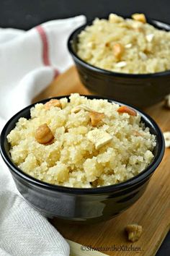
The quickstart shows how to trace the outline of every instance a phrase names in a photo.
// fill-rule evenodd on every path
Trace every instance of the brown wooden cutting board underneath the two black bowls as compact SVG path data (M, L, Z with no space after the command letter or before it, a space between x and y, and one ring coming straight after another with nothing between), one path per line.
M75 67L61 74L35 101L70 93L89 94L81 84ZM163 132L170 131L170 111L163 108L162 103L145 111L155 119ZM170 149L166 149L164 159L144 195L120 216L91 226L63 224L57 219L53 219L52 223L66 239L88 246L86 249L79 246L75 250L75 243L72 243L75 255L98 255L97 252L93 254L89 246L99 247L100 250L103 247L102 252L107 255L155 255L170 227ZM143 226L143 234L138 242L128 242L125 236L124 229L129 223ZM129 249L132 246L133 251L125 251L125 246Z

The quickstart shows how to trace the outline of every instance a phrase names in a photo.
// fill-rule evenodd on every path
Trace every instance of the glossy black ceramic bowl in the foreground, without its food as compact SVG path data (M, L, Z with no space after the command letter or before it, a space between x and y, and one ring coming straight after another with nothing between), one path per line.
M87 97L98 98L97 96ZM46 101L49 101L49 99L41 101L41 103ZM115 101L109 99L109 102ZM122 105L122 103L119 104ZM1 155L9 171L11 171L19 192L33 207L40 210L40 213L48 217L58 217L69 221L95 223L120 214L143 195L153 171L156 170L163 158L165 148L161 130L151 117L138 111L146 127L149 127L151 133L156 135L157 144L151 164L138 176L129 179L127 182L106 187L80 189L40 182L32 176L24 174L21 169L12 163L9 154L10 145L6 140L6 135L14 129L20 117L30 118L30 108L32 106L34 105L27 106L27 108L19 111L6 123L1 132Z

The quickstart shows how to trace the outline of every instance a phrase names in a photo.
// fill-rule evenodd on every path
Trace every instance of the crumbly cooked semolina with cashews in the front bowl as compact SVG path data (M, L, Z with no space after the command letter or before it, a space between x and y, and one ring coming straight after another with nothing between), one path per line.
M151 163L156 138L135 111L77 93L49 105L37 103L7 136L12 161L26 174L66 187L100 187L125 182Z

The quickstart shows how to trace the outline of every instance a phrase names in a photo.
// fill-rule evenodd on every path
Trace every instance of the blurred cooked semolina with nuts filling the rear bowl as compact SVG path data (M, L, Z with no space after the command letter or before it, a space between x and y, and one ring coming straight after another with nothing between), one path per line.
M134 20L136 19L136 20ZM148 24L143 14L98 18L79 34L78 56L113 72L148 74L170 69L170 32Z

